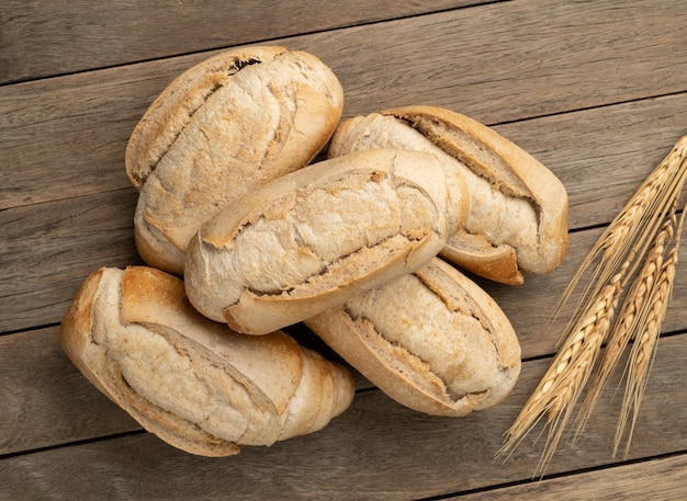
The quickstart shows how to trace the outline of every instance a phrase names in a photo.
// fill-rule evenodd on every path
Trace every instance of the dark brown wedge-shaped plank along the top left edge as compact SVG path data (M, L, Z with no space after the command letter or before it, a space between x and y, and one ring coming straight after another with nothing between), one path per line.
M0 84L473 5L485 0L26 3L0 11ZM170 36L173 34L173 36Z

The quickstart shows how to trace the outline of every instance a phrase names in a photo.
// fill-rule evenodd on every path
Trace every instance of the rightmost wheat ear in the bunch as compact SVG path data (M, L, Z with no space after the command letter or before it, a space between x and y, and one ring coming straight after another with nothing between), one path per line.
M626 368L627 385L620 412L620 420L618 422L618 429L616 431L616 439L613 442L613 456L618 453L624 429L631 417L630 431L624 447L624 458L628 457L630 451L630 443L632 442L637 417L644 396L644 389L646 388L649 372L651 371L656 354L656 345L658 343L658 337L661 335L661 327L673 294L679 240L685 221L685 214L686 210L684 209L678 224L675 223L675 215L671 218L671 231L666 239L671 239L673 237L673 228L675 228L675 236L672 242L673 247L667 252L667 255L661 266L658 277L650 293L645 321L642 326L634 329L634 343L630 350L630 357Z

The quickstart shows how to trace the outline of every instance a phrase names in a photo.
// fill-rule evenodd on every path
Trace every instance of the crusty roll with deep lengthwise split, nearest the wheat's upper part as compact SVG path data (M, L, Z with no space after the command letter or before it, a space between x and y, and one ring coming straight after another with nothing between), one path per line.
M505 284L549 273L567 252L567 193L539 161L496 132L432 106L385 110L345 121L329 157L370 148L426 151L450 162L469 186L468 219L441 255Z

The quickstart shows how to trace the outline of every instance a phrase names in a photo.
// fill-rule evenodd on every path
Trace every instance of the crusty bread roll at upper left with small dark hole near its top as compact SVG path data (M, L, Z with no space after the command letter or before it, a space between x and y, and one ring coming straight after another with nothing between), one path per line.
M315 56L248 47L187 70L133 130L126 171L150 265L180 274L190 238L218 207L309 162L334 133L341 84Z

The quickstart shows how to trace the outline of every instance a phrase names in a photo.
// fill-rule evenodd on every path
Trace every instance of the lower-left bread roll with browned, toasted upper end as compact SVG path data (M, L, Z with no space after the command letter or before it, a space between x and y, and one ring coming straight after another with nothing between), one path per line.
M353 398L345 367L283 332L256 338L207 320L179 278L146 266L93 272L60 337L104 395L192 454L227 456L314 432Z

